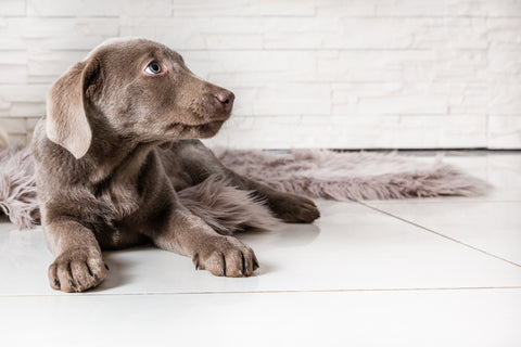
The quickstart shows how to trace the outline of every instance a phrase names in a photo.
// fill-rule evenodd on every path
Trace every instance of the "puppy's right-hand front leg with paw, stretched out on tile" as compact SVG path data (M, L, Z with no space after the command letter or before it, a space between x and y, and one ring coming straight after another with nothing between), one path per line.
M258 268L252 248L232 236L216 233L201 218L190 213L174 211L167 230L152 237L163 249L192 258L195 269L215 275L249 277Z

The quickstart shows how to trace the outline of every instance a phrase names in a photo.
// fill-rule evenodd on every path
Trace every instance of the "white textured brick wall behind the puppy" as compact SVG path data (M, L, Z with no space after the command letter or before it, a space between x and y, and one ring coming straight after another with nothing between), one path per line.
M236 92L213 144L521 149L521 0L0 0L0 128L129 35Z

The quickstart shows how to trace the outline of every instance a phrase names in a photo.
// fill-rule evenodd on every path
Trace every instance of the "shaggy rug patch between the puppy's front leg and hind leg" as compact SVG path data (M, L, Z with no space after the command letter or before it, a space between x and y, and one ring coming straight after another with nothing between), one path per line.
M274 230L282 226L253 192L239 190L215 176L177 194L185 207L224 235L246 228Z

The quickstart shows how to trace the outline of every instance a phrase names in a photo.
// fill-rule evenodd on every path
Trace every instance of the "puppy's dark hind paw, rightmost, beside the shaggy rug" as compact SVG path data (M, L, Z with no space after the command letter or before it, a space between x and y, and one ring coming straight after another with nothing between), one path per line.
M280 194L268 204L277 217L287 223L310 223L320 217L317 205L307 197L294 194Z

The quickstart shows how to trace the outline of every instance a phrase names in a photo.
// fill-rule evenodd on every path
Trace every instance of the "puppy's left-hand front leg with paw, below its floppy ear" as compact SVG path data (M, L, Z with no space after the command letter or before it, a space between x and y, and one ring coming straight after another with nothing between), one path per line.
M56 259L49 267L51 287L84 292L106 277L101 249L91 230L75 220L58 220L43 228L49 249Z

